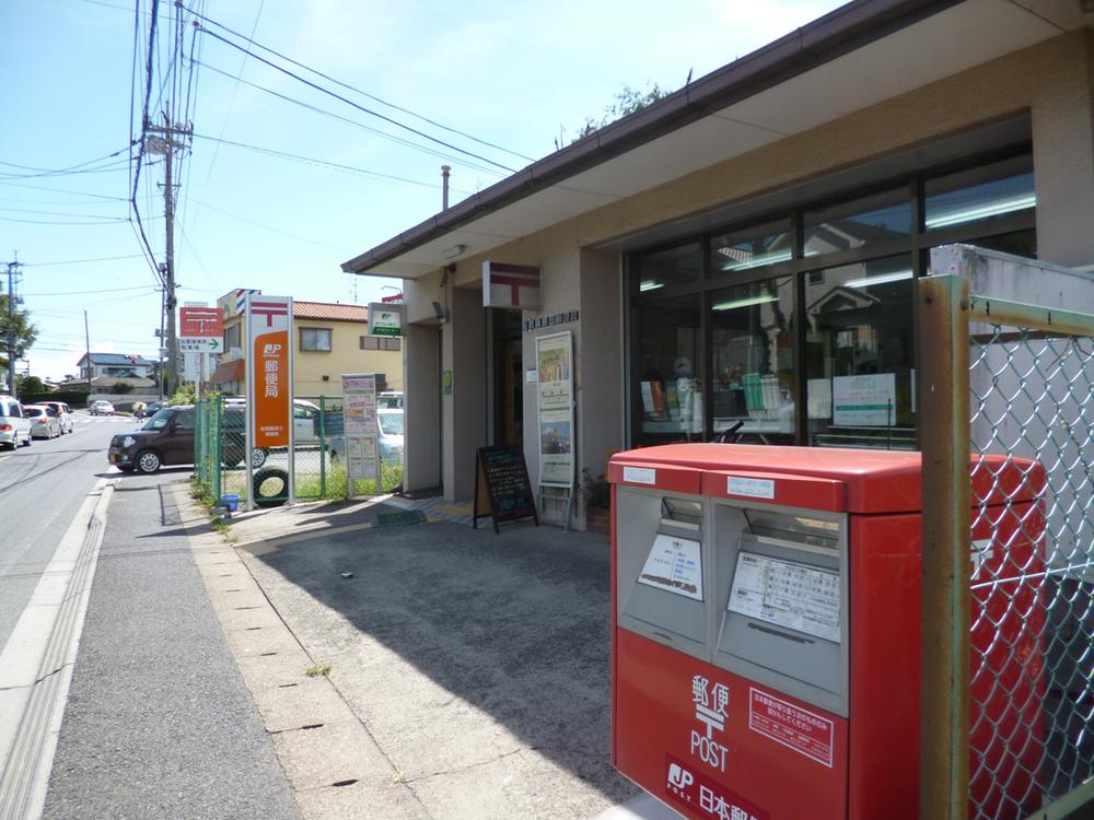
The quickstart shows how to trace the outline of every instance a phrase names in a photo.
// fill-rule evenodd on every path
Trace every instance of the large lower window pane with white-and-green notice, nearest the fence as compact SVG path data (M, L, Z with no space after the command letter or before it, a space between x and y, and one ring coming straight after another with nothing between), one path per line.
M913 448L913 282L907 256L805 273L810 443Z

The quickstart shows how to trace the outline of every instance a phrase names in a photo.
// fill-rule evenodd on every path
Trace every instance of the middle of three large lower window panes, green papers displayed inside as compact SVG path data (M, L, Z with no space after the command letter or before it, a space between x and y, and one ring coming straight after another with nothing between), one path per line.
M713 431L793 444L793 279L715 291L710 311Z

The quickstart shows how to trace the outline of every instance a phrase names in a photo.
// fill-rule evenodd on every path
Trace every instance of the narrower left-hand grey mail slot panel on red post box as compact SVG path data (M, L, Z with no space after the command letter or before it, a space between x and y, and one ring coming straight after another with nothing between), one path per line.
M709 656L703 508L628 488L617 496L619 625L696 657Z

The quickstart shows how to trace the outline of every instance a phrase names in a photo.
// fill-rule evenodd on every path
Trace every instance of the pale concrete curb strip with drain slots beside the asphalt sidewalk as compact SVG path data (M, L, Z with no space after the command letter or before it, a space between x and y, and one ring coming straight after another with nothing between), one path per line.
M429 818L330 680L306 675L322 659L309 655L233 544L210 529L208 514L186 488L172 490L213 612L301 815L305 820Z

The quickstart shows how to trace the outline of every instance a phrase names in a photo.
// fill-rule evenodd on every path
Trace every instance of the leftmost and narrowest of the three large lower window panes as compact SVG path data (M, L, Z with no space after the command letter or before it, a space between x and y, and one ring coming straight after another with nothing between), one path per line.
M641 444L701 440L703 367L699 297L642 305L638 312Z

